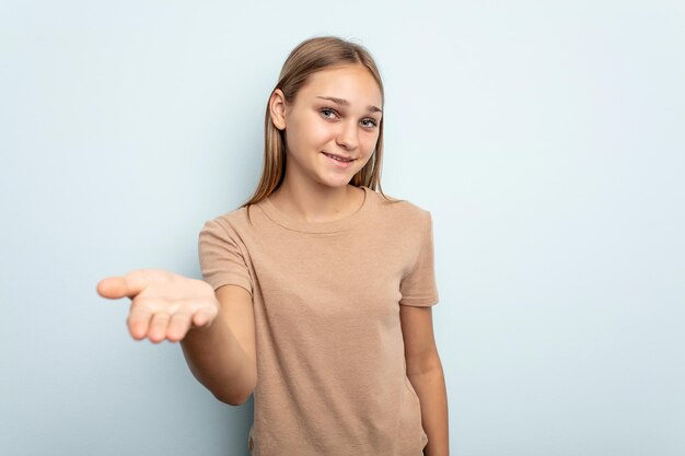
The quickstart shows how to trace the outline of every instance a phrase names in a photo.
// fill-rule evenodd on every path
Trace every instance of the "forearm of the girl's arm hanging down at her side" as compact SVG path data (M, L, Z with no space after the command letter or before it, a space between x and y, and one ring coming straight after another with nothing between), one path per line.
M449 456L448 394L440 360L428 371L407 375L421 402L421 421L428 435L425 456Z

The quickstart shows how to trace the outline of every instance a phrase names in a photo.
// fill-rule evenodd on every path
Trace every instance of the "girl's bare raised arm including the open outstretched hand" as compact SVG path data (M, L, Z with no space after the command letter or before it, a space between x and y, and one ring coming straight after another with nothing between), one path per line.
M214 290L161 269L140 269L98 282L107 299L129 297L133 339L181 341L193 375L219 400L237 406L257 379L252 296L239 285Z

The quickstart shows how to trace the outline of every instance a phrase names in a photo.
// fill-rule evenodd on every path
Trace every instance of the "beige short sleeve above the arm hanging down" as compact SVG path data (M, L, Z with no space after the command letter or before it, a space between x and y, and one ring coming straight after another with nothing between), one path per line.
M418 258L414 268L399 282L399 304L428 307L439 301L433 259L433 222L430 212L426 212Z

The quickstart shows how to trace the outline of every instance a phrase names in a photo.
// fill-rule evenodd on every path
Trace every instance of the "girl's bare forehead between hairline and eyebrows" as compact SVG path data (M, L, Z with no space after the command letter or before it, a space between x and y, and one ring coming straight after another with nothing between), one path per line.
M335 96L351 105L369 104L382 107L381 89L371 72L362 66L349 66L317 71L300 90L302 98Z

